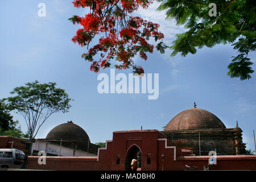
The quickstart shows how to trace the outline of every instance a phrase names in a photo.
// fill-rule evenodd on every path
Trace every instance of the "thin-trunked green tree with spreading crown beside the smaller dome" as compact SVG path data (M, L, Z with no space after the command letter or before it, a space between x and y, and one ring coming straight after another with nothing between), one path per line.
M14 97L4 99L11 110L23 115L30 138L35 138L40 127L53 113L65 113L71 107L71 98L68 98L65 90L55 86L55 82L28 82L25 86L16 87L10 92L15 94Z

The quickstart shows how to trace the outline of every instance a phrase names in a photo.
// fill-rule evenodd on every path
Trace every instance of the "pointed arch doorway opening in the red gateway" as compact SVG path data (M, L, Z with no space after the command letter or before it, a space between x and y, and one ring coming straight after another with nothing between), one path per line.
M131 160L138 160L138 168L141 168L141 148L133 144L126 152L125 171L131 171Z

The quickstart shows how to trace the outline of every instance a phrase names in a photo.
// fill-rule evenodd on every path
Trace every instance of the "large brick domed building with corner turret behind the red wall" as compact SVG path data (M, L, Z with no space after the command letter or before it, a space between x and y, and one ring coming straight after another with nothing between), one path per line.
M216 115L196 105L177 114L161 133L174 146L191 150L195 155L208 155L209 151L216 151L217 155L245 154L238 123L235 128L227 129Z

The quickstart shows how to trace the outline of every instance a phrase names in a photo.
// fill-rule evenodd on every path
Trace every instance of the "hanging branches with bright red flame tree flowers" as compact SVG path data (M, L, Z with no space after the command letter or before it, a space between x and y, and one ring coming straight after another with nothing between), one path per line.
M82 26L72 41L89 48L93 38L96 35L101 36L98 44L82 54L82 58L92 63L90 71L97 73L100 68L108 68L110 61L115 59L119 61L115 64L117 69L133 68L134 73L144 73L141 66L134 65L133 57L139 53L142 59L147 60L146 53L152 53L154 49L147 41L150 37L155 38L155 41L161 40L164 35L158 31L159 24L130 14L139 7L146 9L152 0L74 0L72 3L77 8L90 9L84 17L74 15L69 18L73 24ZM156 46L161 53L164 48L167 46L163 42ZM100 53L100 59L94 60L97 53Z

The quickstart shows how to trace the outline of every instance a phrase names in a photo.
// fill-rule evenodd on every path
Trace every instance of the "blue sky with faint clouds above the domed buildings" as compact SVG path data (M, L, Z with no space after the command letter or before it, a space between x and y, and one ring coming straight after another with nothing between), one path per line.
M147 61L135 58L146 73L159 73L159 98L148 100L148 94L99 94L98 73L89 71L89 63L81 59L86 52L71 39L78 26L68 21L72 15L84 15L72 1L1 1L0 2L0 98L26 82L56 82L73 98L68 113L52 115L36 138L45 138L55 126L72 120L88 133L91 142L112 139L113 131L143 129L162 130L176 114L197 107L215 114L227 128L236 121L243 130L243 142L254 150L253 129L256 129L256 73L248 81L226 75L232 56L230 45L197 50L195 55L170 57L156 50ZM46 17L38 16L38 4L46 4ZM175 34L183 32L164 12L156 13L153 3L136 14L159 23L169 44ZM255 53L250 57L255 61ZM252 66L255 70L255 64ZM110 74L110 69L103 71ZM116 73L131 73L115 71ZM13 113L25 132L24 119Z

